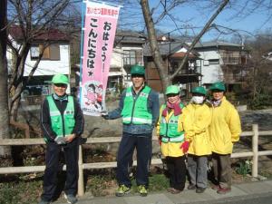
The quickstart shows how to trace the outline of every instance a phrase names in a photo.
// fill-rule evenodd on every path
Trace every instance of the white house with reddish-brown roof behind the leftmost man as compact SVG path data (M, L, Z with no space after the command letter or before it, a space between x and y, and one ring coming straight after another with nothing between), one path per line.
M8 37L15 47L19 47L23 42L23 34L18 26L13 26L9 29ZM34 63L43 49L44 42L50 45L45 47L42 60L38 64L33 78L29 83L25 84L26 86L22 94L22 100L29 100L29 103L36 102L38 100L36 97L41 98L41 95L47 95L52 92L50 82L54 74L63 73L70 77L71 73L69 38L66 34L54 29L37 35L32 41L30 51L24 63L24 82L29 73L31 73ZM15 57L10 47L7 47L6 57L10 75L13 72L12 63ZM70 92L70 87L68 87L68 92Z

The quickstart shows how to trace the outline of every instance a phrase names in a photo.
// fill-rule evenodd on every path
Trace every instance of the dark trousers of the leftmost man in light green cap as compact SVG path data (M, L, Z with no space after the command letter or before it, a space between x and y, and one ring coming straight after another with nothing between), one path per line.
M42 199L50 201L53 199L57 187L57 174L59 170L59 159L63 149L66 163L65 194L76 195L78 181L78 147L79 140L75 139L70 144L58 145L55 142L48 142L45 154L44 171L44 193Z

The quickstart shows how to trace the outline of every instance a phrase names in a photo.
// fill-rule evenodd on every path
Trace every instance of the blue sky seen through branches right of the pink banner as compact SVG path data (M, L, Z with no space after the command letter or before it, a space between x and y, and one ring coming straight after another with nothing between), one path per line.
M105 0L104 2L114 3L114 4L122 4L122 0ZM144 28L144 21L141 14L141 7L138 4L137 0L131 0L131 4L125 5L121 8L121 13L123 15L120 16L120 26L119 28L124 29L132 29L142 31ZM150 7L156 7L159 5L159 0L149 0ZM167 1L168 2L168 1ZM191 2L195 2L195 5ZM165 17L164 20L156 25L157 29L160 29L163 33L171 32L171 34L180 34L178 31L172 32L180 26L184 26L187 24L188 34L198 34L200 29L207 23L209 17L215 12L216 6L207 5L209 1L207 0L189 0L189 3L182 5L173 9L171 12L172 16L175 18L179 18L183 22L176 21L176 25L170 19L170 17ZM220 2L218 0L218 2ZM267 30L272 30L272 19L268 20L268 16L271 15L272 10L269 11L266 8L259 6L255 9L252 9L254 3L253 0L230 0L230 5L226 7L226 9L219 14L217 19L215 20L215 24L219 24L230 29L238 30L238 33L241 35L250 35L256 33L263 33ZM265 4L270 2L270 0L265 0ZM245 6L246 5L246 6ZM242 6L245 8L241 9ZM156 20L156 16L161 13L161 5L158 6L154 15L154 20ZM251 10L250 10L251 9ZM241 16L238 16L241 15ZM121 24L126 24L121 27ZM190 29L190 27L194 27L194 29ZM227 31L227 30L225 30ZM182 30L184 34L185 30ZM229 30L228 30L229 32ZM202 38L202 41L209 41L215 38L220 39L229 39L231 38L231 34L220 34L215 30L212 30L208 34L205 34Z

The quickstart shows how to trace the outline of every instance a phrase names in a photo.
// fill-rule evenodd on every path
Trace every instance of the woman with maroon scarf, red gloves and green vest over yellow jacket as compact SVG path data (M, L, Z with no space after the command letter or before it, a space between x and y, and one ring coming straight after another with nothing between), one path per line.
M189 142L184 138L183 104L180 102L178 86L167 87L167 103L160 107L160 118L157 133L161 144L161 152L165 157L170 174L170 193L180 193L185 187L186 165L185 152Z

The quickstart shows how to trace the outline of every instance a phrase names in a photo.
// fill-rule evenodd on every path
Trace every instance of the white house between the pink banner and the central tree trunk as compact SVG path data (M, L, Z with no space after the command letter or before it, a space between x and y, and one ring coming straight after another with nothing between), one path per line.
M107 92L120 92L131 85L131 66L143 65L145 38L135 32L117 31L112 51Z

